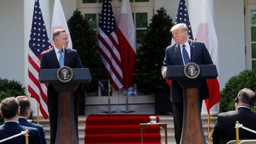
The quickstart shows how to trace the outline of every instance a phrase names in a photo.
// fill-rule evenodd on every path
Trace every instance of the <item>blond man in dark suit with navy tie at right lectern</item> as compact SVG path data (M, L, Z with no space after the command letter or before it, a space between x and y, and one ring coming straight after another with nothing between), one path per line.
M161 74L166 78L166 70L169 65L186 65L195 62L198 65L210 65L213 61L204 43L188 39L188 28L185 23L178 23L171 28L171 33L176 43L166 48ZM206 81L199 89L201 104L208 98ZM171 102L174 114L174 133L176 143L181 140L183 124L183 89L176 80L171 81Z

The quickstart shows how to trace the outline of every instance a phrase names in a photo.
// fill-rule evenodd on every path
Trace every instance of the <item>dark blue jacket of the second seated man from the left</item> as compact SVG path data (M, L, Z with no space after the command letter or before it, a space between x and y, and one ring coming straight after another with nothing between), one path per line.
M42 143L46 144L46 135L45 135L45 132L43 131L43 126L38 125L36 123L30 123L30 122L27 121L26 118L18 118L18 123L20 123L21 126L27 126L27 127L38 129L38 131L41 135Z

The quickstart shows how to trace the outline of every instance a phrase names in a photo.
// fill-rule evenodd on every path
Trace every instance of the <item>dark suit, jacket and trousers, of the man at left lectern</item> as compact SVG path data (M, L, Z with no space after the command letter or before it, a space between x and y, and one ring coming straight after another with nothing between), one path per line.
M73 49L65 50L64 65L70 68L81 68L82 63L78 56L78 52ZM41 69L58 69L60 68L58 58L55 50L50 49L43 53L41 60ZM58 126L58 92L55 91L51 84L48 84L47 89L47 102L48 112L50 116L50 143L55 143L55 137ZM74 113L75 113L75 124L78 126L78 92L75 92L74 96Z

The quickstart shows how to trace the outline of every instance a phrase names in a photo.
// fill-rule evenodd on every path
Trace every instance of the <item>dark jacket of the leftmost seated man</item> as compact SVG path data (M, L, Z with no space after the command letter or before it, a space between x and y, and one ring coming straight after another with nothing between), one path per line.
M2 140L4 138L8 138L12 135L21 133L21 131L24 131L25 129L28 129L28 131L29 131L28 140L29 140L30 144L41 144L41 138L40 138L39 132L36 128L29 128L26 126L21 126L20 124L14 122L14 121L6 122L0 126L0 140ZM1 144L24 144L24 143L25 143L25 136L20 135L11 140L7 140L6 142L1 143Z

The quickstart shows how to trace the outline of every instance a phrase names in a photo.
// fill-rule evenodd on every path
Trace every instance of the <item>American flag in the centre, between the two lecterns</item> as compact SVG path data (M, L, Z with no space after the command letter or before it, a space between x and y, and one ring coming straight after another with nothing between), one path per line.
M98 50L102 55L102 62L105 66L107 76L111 79L112 86L118 90L123 87L123 74L121 55L117 35L117 28L114 20L114 13L110 0L104 0L98 27Z

